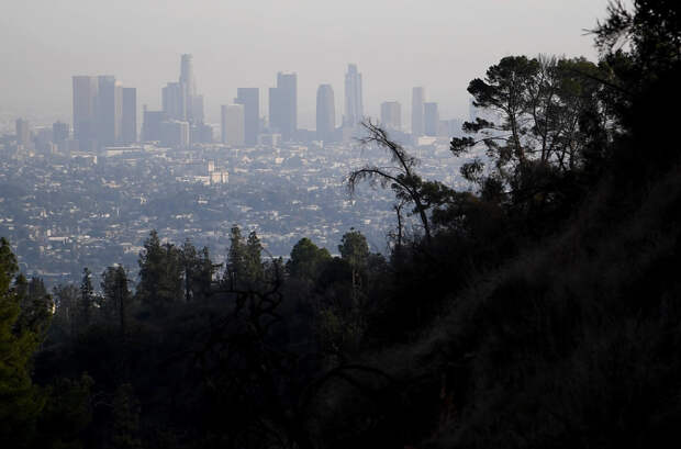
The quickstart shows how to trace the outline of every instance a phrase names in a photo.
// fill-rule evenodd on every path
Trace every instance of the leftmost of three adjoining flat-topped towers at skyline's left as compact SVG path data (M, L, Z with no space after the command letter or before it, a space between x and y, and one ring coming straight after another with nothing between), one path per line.
M97 77L75 76L74 80L74 138L80 149L92 149L97 137Z

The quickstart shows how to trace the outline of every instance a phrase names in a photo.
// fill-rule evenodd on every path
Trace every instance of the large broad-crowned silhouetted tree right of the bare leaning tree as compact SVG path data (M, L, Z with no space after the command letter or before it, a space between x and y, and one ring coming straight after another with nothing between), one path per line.
M491 66L468 86L489 120L466 122L476 137L450 143L457 157L479 145L487 150L489 164L475 157L461 167L464 178L483 200L515 211L571 201L572 178L588 164L594 136L605 133L599 80L607 76L583 58L509 56Z

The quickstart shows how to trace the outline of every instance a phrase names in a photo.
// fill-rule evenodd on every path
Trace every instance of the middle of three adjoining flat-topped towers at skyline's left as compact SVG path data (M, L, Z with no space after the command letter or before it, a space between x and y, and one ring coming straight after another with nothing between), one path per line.
M100 146L115 145L121 138L123 88L111 75L98 77L97 141Z

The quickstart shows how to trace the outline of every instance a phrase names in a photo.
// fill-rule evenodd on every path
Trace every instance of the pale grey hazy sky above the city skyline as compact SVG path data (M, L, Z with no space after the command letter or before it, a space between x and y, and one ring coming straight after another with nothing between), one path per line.
M466 87L511 54L595 58L584 29L607 0L0 0L0 112L71 121L71 75L115 75L139 105L194 55L208 120L237 87L298 72L299 125L314 127L316 87L331 83L338 120L343 76L356 63L365 113L425 86L443 119L466 116ZM265 112L261 111L261 114Z

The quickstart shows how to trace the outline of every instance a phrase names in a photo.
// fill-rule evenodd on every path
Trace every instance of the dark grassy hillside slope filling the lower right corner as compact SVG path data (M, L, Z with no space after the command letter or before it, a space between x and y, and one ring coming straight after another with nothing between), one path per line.
M681 418L681 170L457 299L425 353L465 379L432 447L660 447ZM629 209L629 207L627 207ZM438 369L438 368L434 368ZM678 437L676 437L678 442Z

